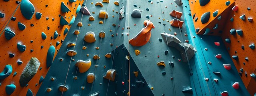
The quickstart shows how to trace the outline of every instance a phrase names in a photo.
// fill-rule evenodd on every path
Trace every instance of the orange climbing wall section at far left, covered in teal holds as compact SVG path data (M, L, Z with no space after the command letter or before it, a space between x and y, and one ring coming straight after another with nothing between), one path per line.
M0 1L1 96L37 93L83 2Z

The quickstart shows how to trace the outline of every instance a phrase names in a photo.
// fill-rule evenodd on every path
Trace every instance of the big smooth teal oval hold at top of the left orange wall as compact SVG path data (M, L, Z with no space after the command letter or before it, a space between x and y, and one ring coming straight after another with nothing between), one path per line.
M26 19L30 20L35 13L35 7L29 0L22 0L20 3L20 12Z

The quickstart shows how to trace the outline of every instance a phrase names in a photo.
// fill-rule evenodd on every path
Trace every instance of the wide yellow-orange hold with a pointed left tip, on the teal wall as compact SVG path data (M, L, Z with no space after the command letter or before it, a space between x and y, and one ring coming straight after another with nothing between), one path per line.
M78 67L80 73L84 73L87 70L89 70L91 64L92 64L91 60L89 61L78 60L75 65Z

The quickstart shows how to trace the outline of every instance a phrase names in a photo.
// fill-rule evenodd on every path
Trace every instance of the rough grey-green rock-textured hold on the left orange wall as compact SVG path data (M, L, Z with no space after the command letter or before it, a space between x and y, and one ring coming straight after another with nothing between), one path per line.
M39 60L36 57L32 57L20 75L21 87L26 86L26 84L28 84L28 82L35 76L39 66Z

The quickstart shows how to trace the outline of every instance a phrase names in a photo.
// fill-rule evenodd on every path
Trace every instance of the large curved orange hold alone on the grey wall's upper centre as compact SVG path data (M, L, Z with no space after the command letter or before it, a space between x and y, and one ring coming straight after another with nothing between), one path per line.
M142 28L134 38L129 40L132 46L143 46L150 40L151 30L155 28L155 26L150 20L145 20L144 26L145 28Z

